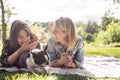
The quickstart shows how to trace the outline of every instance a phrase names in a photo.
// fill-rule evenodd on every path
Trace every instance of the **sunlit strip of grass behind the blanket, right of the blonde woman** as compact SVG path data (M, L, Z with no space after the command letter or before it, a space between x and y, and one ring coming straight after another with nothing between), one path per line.
M113 56L120 59L118 47L85 47L85 56Z

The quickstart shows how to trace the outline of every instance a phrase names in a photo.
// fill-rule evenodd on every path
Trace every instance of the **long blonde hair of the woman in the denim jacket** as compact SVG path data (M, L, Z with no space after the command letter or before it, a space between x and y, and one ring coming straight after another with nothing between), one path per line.
M67 33L66 43L67 51L73 50L76 44L76 30L75 26L70 18L60 17L55 21L56 27L59 27L62 31Z

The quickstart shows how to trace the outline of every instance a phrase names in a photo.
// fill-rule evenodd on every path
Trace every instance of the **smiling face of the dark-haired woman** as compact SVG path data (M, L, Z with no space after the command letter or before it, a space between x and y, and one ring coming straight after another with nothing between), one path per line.
M17 37L18 44L22 45L28 41L30 41L30 35L25 30L20 30Z

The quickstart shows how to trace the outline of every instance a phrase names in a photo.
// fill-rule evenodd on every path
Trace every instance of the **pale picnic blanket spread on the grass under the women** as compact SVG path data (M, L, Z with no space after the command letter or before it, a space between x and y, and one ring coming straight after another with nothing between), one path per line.
M64 69L64 68L54 68L54 67L43 67L43 68L16 68L1 67L0 70L5 70L9 72L15 71L28 71L28 72L38 72L38 73L57 73L57 74L76 74L86 77L116 77L120 78L120 59L114 57L102 57L93 56L85 57L83 68L76 69Z

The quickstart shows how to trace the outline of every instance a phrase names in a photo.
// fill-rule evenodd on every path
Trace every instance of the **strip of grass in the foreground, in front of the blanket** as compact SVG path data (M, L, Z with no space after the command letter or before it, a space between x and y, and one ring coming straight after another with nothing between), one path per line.
M41 74L0 71L0 80L118 80L117 78L88 78L78 75Z

